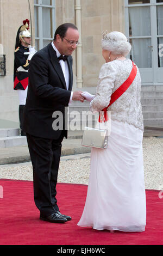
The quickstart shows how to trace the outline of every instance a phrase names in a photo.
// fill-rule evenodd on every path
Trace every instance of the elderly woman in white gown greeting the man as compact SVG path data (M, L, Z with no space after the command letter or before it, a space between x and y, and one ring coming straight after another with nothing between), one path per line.
M106 61L99 72L96 95L84 92L92 112L108 107L111 94L127 80L133 63L126 58L131 45L124 34L103 34L102 54ZM137 67L136 67L137 68ZM136 76L108 108L111 132L108 148L92 148L91 172L81 227L129 232L144 231L146 194L143 174L143 116L141 78Z

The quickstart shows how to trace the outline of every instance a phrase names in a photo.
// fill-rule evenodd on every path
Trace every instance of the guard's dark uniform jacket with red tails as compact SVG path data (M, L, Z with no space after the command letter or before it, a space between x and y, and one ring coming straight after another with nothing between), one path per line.
M19 46L15 50L14 90L25 90L28 86L29 48Z

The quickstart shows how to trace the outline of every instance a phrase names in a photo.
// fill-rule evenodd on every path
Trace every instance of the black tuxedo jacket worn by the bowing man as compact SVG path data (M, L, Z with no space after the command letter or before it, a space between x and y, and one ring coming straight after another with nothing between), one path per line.
M61 130L53 130L54 111L60 111L65 120L65 107L71 96L73 74L72 56L67 64L70 74L69 88L62 72L57 54L51 43L35 53L29 64L29 86L24 108L23 130L30 135L58 139ZM63 126L65 123L63 121ZM64 127L63 127L64 128ZM64 129L67 138L67 131Z

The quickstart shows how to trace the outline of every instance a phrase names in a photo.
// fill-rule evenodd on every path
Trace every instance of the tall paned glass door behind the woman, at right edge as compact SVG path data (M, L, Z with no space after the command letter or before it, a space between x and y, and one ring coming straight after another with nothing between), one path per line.
M125 7L130 58L140 69L142 84L163 82L163 0L125 0Z

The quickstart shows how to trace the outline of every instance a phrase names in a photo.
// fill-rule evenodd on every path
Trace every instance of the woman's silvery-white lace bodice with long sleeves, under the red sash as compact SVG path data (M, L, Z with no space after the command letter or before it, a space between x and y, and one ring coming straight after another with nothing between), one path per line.
M96 88L96 96L90 103L92 112L102 111L110 102L111 94L127 80L133 68L130 59L114 60L102 65ZM143 130L143 115L141 107L141 77L139 69L131 86L108 108L111 119L128 124Z

